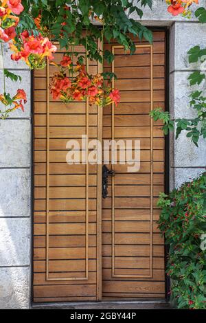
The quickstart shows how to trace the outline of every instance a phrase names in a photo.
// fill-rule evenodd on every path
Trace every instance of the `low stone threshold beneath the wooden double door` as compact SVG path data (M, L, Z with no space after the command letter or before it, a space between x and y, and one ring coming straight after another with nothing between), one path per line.
M33 303L32 309L171 309L166 300Z

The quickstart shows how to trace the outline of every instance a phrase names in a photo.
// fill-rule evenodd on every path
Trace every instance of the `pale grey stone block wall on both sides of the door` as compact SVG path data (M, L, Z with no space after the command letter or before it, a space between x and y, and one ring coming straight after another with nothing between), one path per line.
M146 25L170 25L170 111L174 118L190 118L187 109L187 76L197 65L188 65L187 51L194 45L206 47L206 25L185 22L181 16L172 18L165 3L153 1L153 11L146 9ZM206 5L205 0L200 1ZM161 4L161 6L160 6ZM163 5L163 7L162 7ZM135 16L134 16L135 18ZM11 118L0 121L0 308L28 309L31 302L31 100L30 71L23 63L10 60L8 47L3 53L5 68L22 76L21 84L6 82L15 93L26 89L25 113L16 111ZM0 93L2 93L0 70ZM170 187L196 177L205 170L206 144L196 148L184 134L179 140L170 135Z

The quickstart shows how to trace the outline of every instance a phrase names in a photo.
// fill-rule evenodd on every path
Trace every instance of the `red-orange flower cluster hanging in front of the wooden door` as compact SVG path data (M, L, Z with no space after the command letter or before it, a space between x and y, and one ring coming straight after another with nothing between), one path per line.
M49 89L54 100L63 102L89 100L89 104L98 104L104 107L114 102L116 105L120 101L119 91L110 87L104 87L103 76L101 74L89 75L84 65L78 63L74 70L78 75L69 79L66 76L65 67L71 69L71 58L63 56L60 62L62 68L52 78Z

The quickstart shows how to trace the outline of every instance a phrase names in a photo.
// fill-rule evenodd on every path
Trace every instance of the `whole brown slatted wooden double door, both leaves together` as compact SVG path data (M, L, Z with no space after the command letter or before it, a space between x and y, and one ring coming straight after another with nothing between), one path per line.
M34 302L164 298L163 238L155 222L164 140L148 113L165 104L165 33L154 38L153 46L137 41L134 56L104 44L115 54L104 71L113 68L121 91L114 109L54 101L47 85L56 67L34 72ZM61 57L58 48L56 63ZM89 72L101 66L90 62ZM139 172L108 165L116 175L103 201L102 165L66 162L68 140L88 134L101 141L102 133L141 145Z

